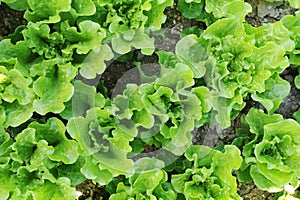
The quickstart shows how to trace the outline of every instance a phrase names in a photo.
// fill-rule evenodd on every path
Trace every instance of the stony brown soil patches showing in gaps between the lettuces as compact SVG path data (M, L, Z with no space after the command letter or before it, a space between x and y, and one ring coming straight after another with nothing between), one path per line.
M266 3L262 0L247 0L247 2L252 5L253 12L250 13L246 19L248 23L252 24L253 26L260 26L264 23L277 21L282 16L295 12L295 10L290 8L286 2ZM182 17L180 12L177 10L176 3L166 10L166 15L168 16L168 19L163 28L165 28L166 31L169 31L168 35L171 35L172 37L167 38L165 41L158 42L160 46L164 48L163 50L172 51L176 41L179 39L180 31L186 27L196 26L205 28L205 24L201 22ZM17 26L25 25L27 23L22 16L22 12L13 11L3 3L0 5L0 40L8 34L13 33ZM136 83L139 81L134 76L136 70L132 70L135 67L135 65L131 62L132 60L140 61L142 64L144 64L144 66L151 64L152 67L154 66L154 72L152 73L155 73L155 70L157 70L155 67L156 65L154 64L157 63L158 58L156 56L143 56L138 52L133 52L131 56L132 59L130 59L128 62L115 61L111 63L109 68L102 75L101 80L104 80L104 86L108 88L109 96L115 96L116 94L120 93L122 91L122 85L124 86L126 83ZM128 70L132 70L131 75L123 76L128 72ZM292 114L300 107L300 91L295 88L293 83L293 79L297 73L297 70L288 69L282 74L282 77L291 83L291 92L277 111L285 118L292 117ZM120 87L116 87L116 84ZM243 112L246 113L247 109L249 109L251 106L259 105L249 101L247 102L247 106ZM230 144L235 137L234 130L237 124L238 119L233 121L232 126L225 130L210 126L204 126L200 129L194 130L193 142L195 144L204 144L211 147L222 144ZM89 180L78 185L77 190L80 191L80 195L78 197L80 200L87 198L108 199L109 197L103 187L95 185ZM238 183L238 190L239 194L245 200L274 199L273 194L259 190L254 184Z

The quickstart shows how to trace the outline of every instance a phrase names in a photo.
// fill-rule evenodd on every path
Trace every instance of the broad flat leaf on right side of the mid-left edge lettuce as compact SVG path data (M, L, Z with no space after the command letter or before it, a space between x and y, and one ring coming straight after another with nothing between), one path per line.
M36 112L44 115L48 112L59 113L64 110L64 102L71 99L77 69L70 63L60 65L56 60L45 60L35 64L30 70L33 77L39 78L33 83L34 92L40 97L33 102ZM52 88L55 88L53 91Z

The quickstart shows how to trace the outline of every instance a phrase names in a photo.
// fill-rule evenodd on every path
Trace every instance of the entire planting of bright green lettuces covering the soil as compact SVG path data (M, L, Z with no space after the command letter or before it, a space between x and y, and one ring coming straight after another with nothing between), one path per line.
M244 1L179 0L207 28L156 51L159 73L140 69L141 84L110 99L78 76L94 79L132 48L153 54L172 0L2 2L28 24L0 42L0 199L75 199L86 179L110 199L241 199L233 171L293 198L300 111L298 122L274 112L290 92L280 74L300 70L300 12L252 27ZM192 144L195 128L229 127L249 98L268 114L250 109L233 145Z

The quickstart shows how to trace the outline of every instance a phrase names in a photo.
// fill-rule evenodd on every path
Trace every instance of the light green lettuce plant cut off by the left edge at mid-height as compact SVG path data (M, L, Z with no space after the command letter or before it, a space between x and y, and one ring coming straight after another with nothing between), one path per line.
M3 126L19 126L33 114L59 113L64 102L73 95L70 83L77 68L60 58L28 61L31 53L21 42L16 46L9 39L1 42L1 123ZM3 47L3 49L2 49Z

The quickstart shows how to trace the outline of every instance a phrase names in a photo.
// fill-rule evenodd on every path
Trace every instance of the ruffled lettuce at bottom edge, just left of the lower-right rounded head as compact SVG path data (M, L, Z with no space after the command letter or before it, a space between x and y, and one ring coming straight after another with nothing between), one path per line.
M193 162L192 167L171 176L172 186L185 199L241 199L232 176L242 163L236 147L225 146L222 153L206 146L191 146L185 157Z

